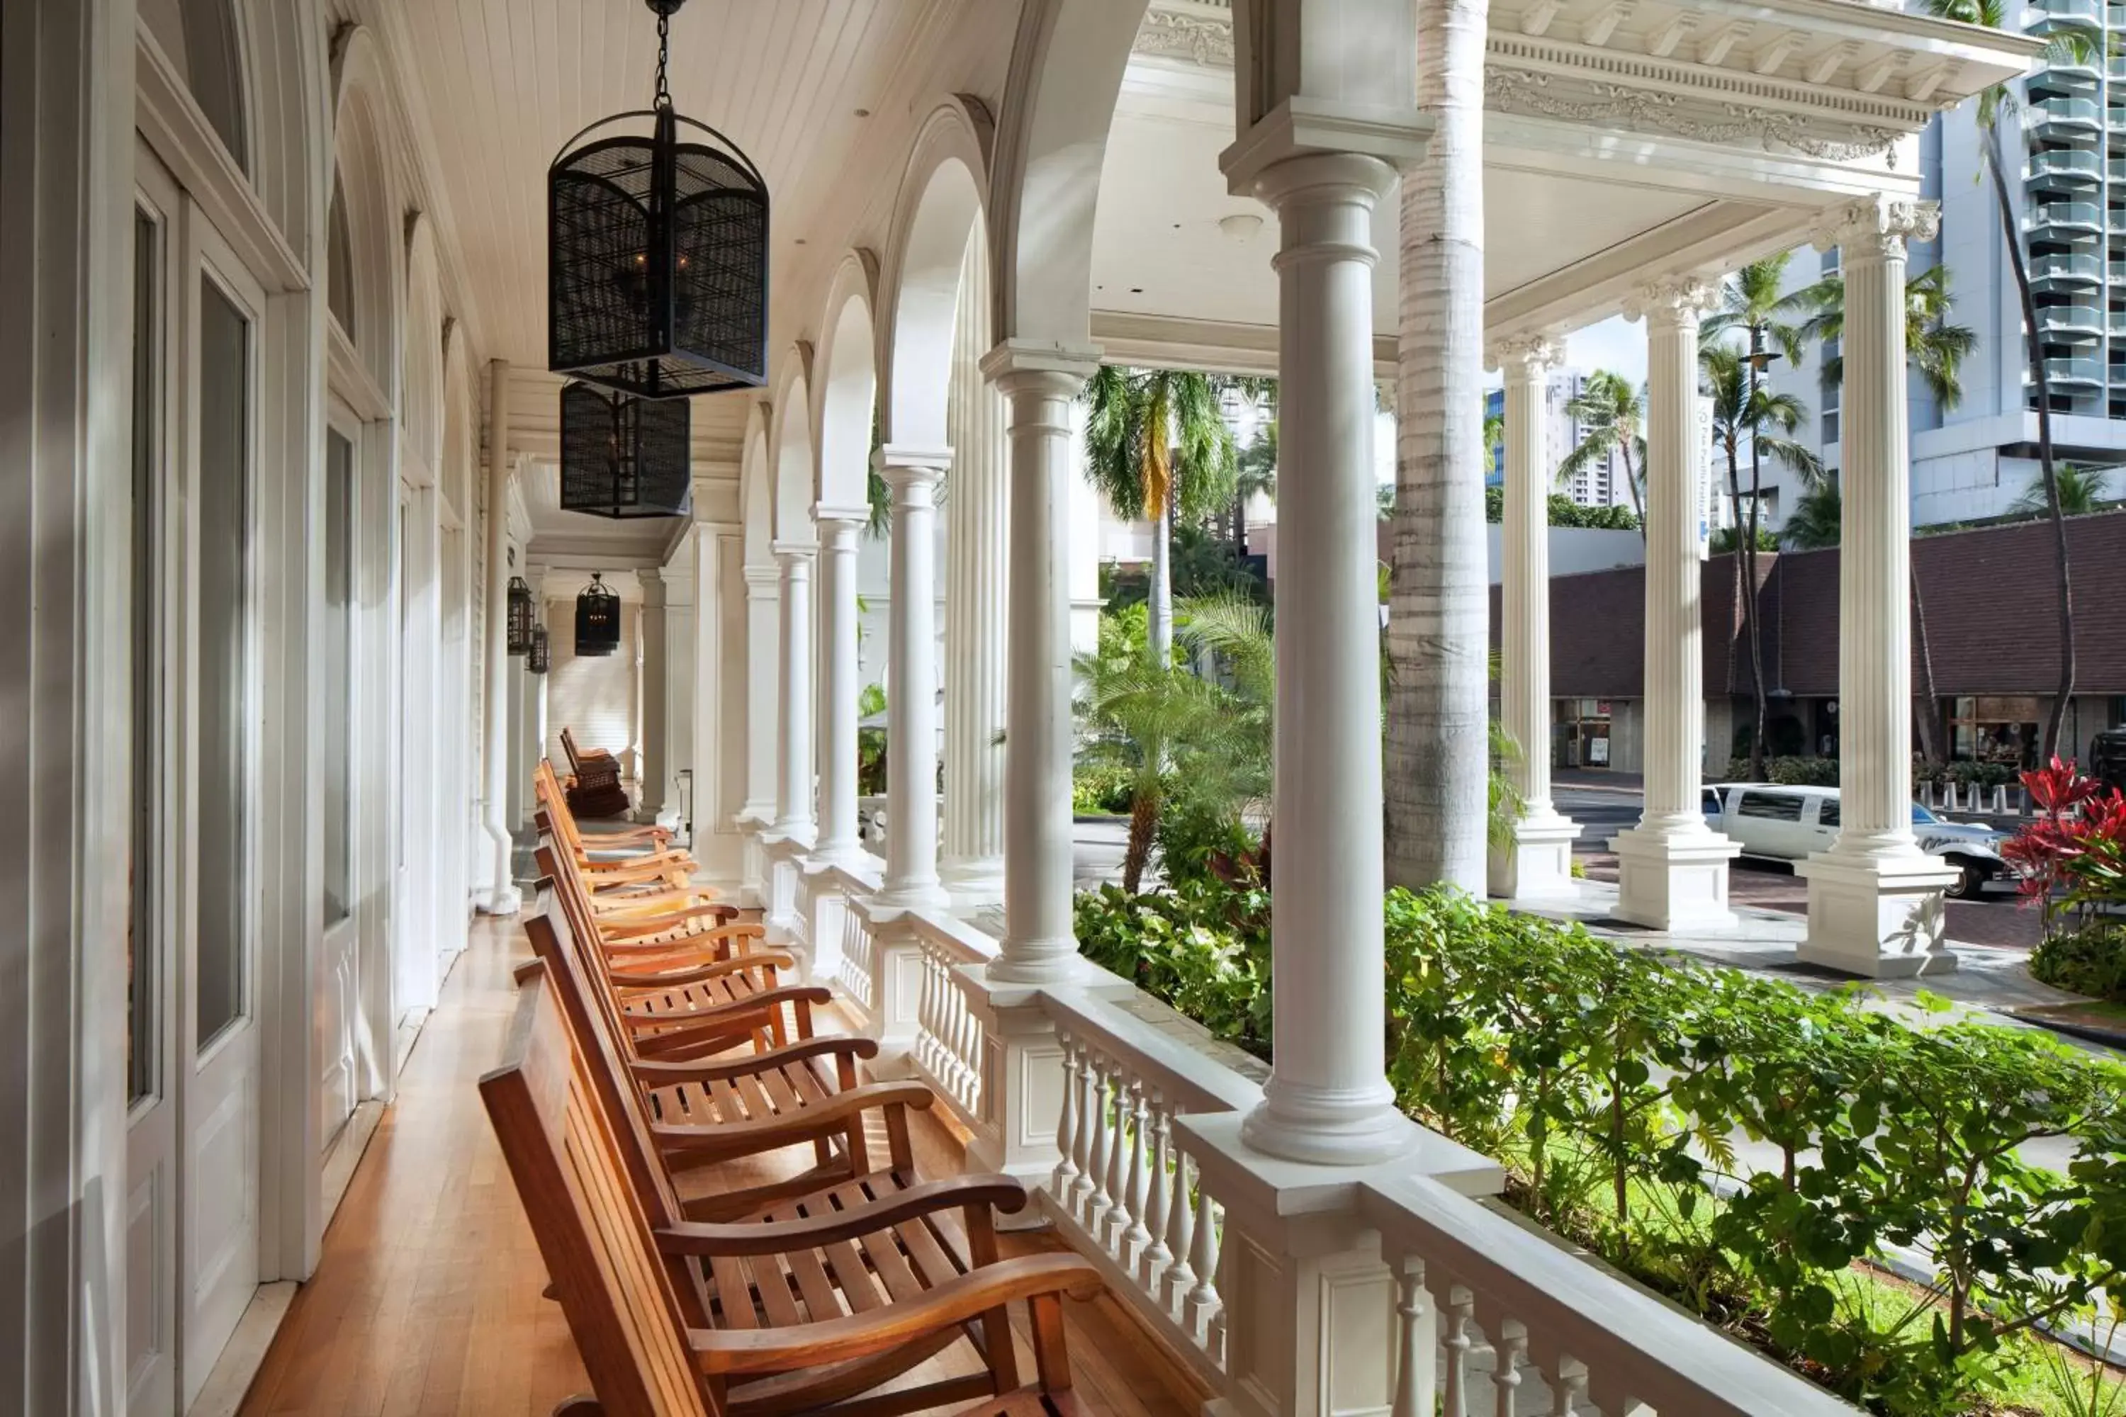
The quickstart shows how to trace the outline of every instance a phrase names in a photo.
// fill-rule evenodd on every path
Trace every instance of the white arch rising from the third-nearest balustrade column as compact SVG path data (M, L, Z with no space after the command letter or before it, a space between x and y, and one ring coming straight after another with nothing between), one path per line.
M923 119L899 195L882 280L880 431L889 444L944 448L952 317L967 238L989 191L989 113L950 98Z

